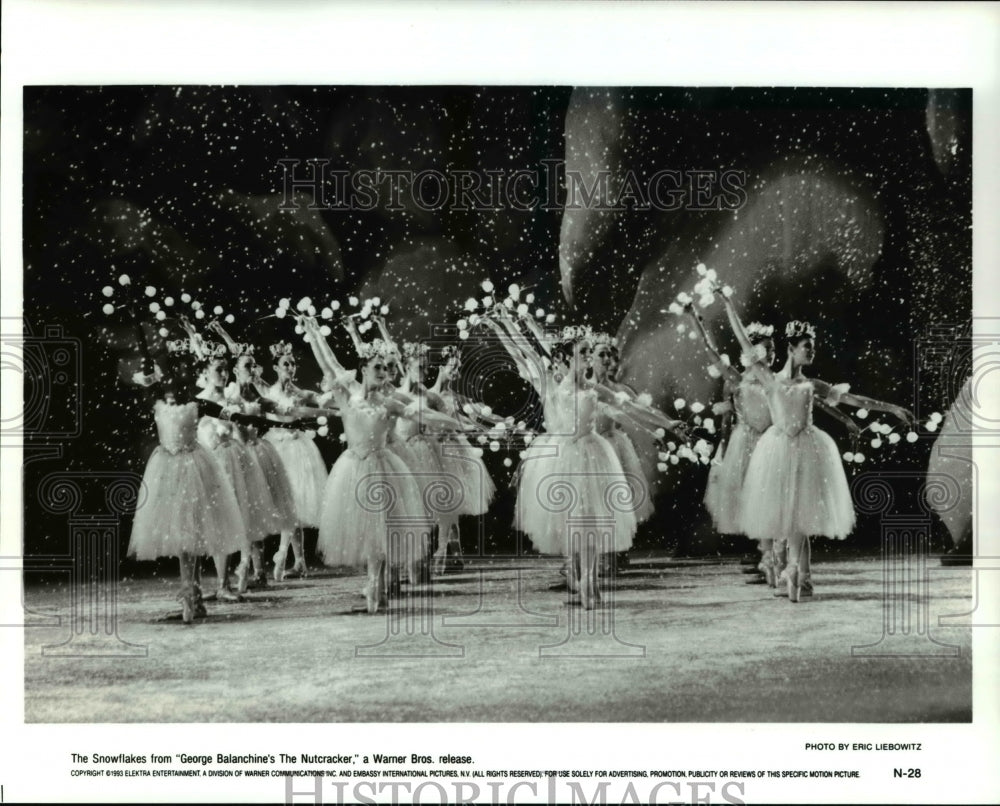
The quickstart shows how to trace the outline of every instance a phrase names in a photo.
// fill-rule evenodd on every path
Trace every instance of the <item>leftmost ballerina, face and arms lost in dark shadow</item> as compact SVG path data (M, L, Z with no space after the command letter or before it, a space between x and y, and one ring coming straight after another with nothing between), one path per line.
M144 337L140 338L148 359ZM189 343L178 339L168 342L167 348L165 374L150 361L147 368L151 371L133 378L157 397L153 416L159 446L143 474L146 496L136 510L127 553L138 560L177 557L181 618L190 624L196 616L205 615L198 559L226 557L241 550L246 545L246 527L232 486L197 438L199 417L221 415L222 409L191 396Z

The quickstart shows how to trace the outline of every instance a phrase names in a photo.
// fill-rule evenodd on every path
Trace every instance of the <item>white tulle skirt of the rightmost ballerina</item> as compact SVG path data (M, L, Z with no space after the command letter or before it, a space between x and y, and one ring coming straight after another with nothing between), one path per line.
M842 540L854 528L854 504L840 452L814 425L795 436L772 426L757 442L743 477L740 526L754 540L794 534Z

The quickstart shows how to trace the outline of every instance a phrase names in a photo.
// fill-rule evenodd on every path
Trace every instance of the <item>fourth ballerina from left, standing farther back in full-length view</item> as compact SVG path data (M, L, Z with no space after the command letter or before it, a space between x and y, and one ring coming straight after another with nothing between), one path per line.
M295 526L281 531L281 542L273 558L274 578L281 581L308 574L302 530L319 525L327 469L319 448L313 442L313 432L298 428L293 414L293 410L300 407L323 408L318 402L318 394L295 385L298 367L292 345L279 341L271 345L270 352L277 380L263 395L274 404L268 412L271 427L264 438L274 445L281 457L295 500ZM286 570L289 546L294 562Z

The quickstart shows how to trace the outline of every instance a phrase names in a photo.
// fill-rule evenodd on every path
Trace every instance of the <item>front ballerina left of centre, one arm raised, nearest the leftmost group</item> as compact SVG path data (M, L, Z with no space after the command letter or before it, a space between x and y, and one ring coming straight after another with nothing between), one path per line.
M426 554L421 537L407 546L389 543L390 515L426 516L420 487L410 469L386 446L391 415L447 429L459 424L436 412L421 411L419 403L404 407L384 394L385 357L391 350L381 339L362 346L362 380L358 382L357 373L337 361L315 320L301 319L323 370L324 386L330 388L328 394L340 409L348 444L330 471L323 492L317 551L328 565L366 566L367 610L376 613L387 601L387 558L389 587L395 588L399 565ZM391 513L386 508L374 511L363 505L377 487L382 490L378 495L388 496Z

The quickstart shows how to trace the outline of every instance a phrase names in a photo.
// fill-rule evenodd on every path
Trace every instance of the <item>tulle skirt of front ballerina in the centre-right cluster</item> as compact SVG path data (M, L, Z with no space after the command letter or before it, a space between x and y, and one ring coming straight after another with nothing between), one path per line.
M606 439L597 434L576 440L539 437L525 452L521 468L515 526L542 554L572 551L570 518L610 518L599 529L599 550L631 547L638 501Z

